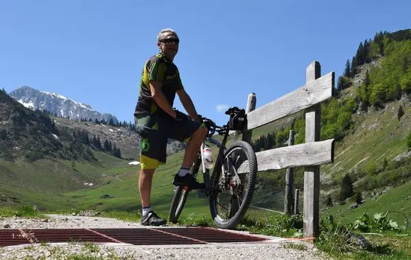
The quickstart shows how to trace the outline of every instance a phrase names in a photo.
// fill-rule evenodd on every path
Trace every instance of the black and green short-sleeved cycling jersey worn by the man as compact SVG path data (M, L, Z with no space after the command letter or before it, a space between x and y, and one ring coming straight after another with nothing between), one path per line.
M151 97L150 81L158 81L167 101L173 106L175 93L183 88L177 66L161 53L145 62L140 79L140 90L134 114L153 114L162 109Z

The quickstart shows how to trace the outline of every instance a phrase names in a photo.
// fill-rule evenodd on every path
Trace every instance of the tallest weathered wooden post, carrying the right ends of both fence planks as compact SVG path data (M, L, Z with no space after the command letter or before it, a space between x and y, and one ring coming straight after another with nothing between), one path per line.
M312 62L306 70L306 83L321 77L319 62ZM306 143L320 140L321 104L306 109ZM320 166L304 167L304 237L319 235Z

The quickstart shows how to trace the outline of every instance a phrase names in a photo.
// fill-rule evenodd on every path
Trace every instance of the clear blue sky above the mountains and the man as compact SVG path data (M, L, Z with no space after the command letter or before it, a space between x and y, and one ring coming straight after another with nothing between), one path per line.
M302 86L314 60L338 77L361 41L411 28L410 10L405 0L0 0L0 88L55 92L131 121L142 66L171 27L197 111L223 124L217 107L245 107L250 92L269 103Z

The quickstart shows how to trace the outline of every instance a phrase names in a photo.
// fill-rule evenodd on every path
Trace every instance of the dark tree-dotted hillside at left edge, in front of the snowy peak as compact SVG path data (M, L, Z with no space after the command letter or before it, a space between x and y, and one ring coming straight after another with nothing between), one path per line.
M90 148L67 128L58 128L49 116L24 107L0 91L0 159L23 157L36 161L44 157L83 158L92 161Z

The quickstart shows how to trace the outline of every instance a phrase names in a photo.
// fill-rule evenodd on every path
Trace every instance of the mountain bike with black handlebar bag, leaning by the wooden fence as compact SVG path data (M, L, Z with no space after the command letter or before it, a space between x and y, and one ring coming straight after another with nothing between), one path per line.
M227 125L222 127L217 126L209 118L202 118L203 124L208 128L208 134L190 168L190 174L197 177L199 168L202 166L206 190L197 190L197 196L209 197L210 213L216 226L221 229L232 229L244 217L253 197L257 177L257 159L256 153L247 142L236 141L225 147L229 132L243 129L247 122L244 109L230 107L225 114L230 118ZM223 135L223 141L216 140L214 133ZM212 169L206 168L203 158L203 147L208 143L219 148L216 163ZM178 221L190 191L188 187L176 187L169 222Z

